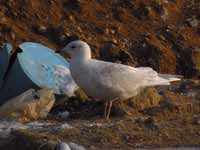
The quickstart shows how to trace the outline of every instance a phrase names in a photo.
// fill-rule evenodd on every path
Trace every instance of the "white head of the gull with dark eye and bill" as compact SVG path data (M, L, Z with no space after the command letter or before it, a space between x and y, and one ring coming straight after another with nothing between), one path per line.
M73 58L78 59L90 59L91 50L90 46L81 40L72 41L62 49L62 52L70 55Z

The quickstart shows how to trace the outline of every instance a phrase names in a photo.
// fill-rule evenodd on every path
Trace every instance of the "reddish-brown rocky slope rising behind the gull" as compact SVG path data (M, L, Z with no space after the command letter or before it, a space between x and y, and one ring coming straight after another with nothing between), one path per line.
M2 0L0 42L61 48L87 41L94 57L199 77L197 0Z

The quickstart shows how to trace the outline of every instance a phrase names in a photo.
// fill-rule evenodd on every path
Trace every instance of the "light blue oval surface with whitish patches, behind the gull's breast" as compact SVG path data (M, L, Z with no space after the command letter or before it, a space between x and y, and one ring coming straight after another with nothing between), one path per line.
M62 56L39 43L26 42L19 47L23 51L17 56L20 66L33 83L56 94L68 95L74 90L69 63Z

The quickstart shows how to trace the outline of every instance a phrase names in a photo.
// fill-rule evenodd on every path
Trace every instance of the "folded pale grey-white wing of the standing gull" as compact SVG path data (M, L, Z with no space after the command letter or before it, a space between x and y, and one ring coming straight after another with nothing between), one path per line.
M98 60L94 60L92 64L94 68L98 68L93 70L93 78L103 86L137 89L145 86L169 85L168 80L159 77L158 73L149 67L134 68Z

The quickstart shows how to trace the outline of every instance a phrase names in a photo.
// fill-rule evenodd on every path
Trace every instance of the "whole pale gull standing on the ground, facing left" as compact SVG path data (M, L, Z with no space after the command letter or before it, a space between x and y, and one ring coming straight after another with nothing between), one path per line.
M70 42L61 52L71 56L69 68L76 84L88 96L105 101L106 120L113 101L134 97L145 87L180 80L177 75L159 74L150 67L135 68L93 59L90 46L81 40Z

